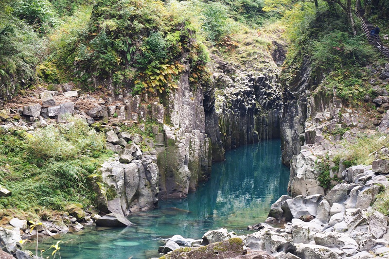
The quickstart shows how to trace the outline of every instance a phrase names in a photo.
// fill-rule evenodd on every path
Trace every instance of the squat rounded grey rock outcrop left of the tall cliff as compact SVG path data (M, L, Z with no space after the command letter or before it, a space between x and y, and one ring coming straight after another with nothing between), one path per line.
M156 156L136 157L130 163L107 161L101 178L93 180L98 193L98 207L103 212L128 216L130 212L154 208L158 201L158 166Z

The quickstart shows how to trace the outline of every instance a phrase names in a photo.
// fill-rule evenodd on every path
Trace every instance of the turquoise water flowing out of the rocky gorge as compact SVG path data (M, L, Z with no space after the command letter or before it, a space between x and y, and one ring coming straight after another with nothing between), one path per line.
M211 179L187 199L160 201L157 209L130 216L134 227L88 227L57 237L65 242L61 258L146 259L158 257L160 240L176 234L201 239L220 227L245 234L249 224L265 221L270 205L286 193L288 180L280 140L240 147L227 152L225 162L212 164ZM55 242L46 239L40 249Z

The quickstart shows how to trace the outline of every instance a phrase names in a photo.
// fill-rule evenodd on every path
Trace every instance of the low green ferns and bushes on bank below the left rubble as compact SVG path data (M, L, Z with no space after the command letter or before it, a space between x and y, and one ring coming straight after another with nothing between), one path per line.
M102 133L86 122L70 120L34 135L0 134L0 185L12 190L12 196L0 199L0 210L28 211L44 218L52 217L50 210L64 210L71 203L86 207L94 202L87 177L111 153L104 149Z

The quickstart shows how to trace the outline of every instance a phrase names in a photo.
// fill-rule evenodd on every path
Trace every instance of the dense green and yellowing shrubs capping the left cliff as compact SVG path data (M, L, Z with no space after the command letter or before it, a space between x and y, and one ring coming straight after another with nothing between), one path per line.
M58 38L52 60L91 90L109 78L133 92L162 93L177 87L184 53L195 75L191 83L200 81L207 55L196 30L158 0L101 0L84 31Z

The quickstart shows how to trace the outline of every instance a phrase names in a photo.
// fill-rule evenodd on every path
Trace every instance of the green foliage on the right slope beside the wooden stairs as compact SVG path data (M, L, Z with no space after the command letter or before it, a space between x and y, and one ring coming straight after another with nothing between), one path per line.
M362 31L354 35L342 6L318 1L315 7L299 2L289 4L283 12L290 39L282 78L286 84L309 64L313 82L331 91L336 89L336 95L349 104L371 94L371 72L366 66L384 61Z

